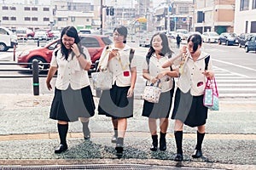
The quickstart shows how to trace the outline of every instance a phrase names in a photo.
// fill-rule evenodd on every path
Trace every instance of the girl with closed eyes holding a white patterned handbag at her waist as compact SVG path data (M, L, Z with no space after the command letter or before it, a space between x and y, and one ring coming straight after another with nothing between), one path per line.
M158 144L160 144L160 150L166 150L166 131L175 83L173 77L178 77L178 71L171 67L162 68L161 65L171 58L172 54L166 34L154 34L150 41L148 54L143 62L143 77L147 79L147 84L155 84L160 81L161 87L159 103L150 103L147 100L144 100L143 103L143 116L148 117L152 138L150 150L152 151L157 150ZM160 119L160 143L157 135L157 119Z

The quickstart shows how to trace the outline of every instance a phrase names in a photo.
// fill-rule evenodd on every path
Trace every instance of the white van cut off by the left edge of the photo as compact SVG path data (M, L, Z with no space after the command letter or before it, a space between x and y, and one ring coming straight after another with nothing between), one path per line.
M17 36L8 28L0 26L0 51L7 51L17 44Z

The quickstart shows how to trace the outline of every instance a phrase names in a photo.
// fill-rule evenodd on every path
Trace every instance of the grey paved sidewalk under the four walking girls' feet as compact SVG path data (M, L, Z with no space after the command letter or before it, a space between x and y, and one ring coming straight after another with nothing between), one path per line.
M112 125L105 116L90 119L91 139L84 141L80 122L69 126L69 149L54 154L59 144L56 122L49 119L53 94L1 94L0 166L140 164L211 169L256 169L256 99L220 99L220 111L210 111L203 143L204 157L193 159L196 129L184 127L184 161L173 161L176 145L173 121L168 128L167 150L149 150L148 120L141 116L142 99L135 100L134 117L128 120L125 152L115 156L110 142ZM98 98L95 98L96 105ZM1 167L0 167L1 169ZM168 168L166 168L168 169Z

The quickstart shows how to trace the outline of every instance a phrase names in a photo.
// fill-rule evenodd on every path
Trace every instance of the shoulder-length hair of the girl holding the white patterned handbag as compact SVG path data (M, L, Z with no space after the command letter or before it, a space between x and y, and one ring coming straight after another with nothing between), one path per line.
M154 48L152 47L152 41L153 41L153 38L156 36L160 36L160 38L162 39L163 48L160 51L160 55L165 56L166 54L168 54L168 58L171 58L173 51L171 50L171 48L169 46L168 37L166 36L165 33L161 33L161 32L155 33L154 36L151 38L150 48L148 49L148 54L146 55L146 58L150 59L151 55L154 54L154 52L155 52Z

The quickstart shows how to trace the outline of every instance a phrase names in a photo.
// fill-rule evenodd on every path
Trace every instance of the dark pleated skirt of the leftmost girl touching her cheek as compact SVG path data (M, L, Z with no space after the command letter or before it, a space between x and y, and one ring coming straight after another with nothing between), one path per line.
M90 86L78 90L73 90L70 87L67 90L55 88L55 97L52 101L49 118L75 122L79 120L79 117L94 116L95 109Z

